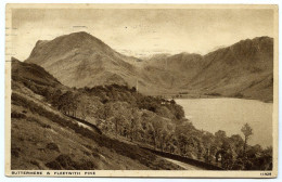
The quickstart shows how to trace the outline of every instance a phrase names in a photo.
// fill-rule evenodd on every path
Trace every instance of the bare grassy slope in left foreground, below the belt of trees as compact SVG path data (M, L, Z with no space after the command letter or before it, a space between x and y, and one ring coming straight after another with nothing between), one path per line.
M56 110L33 90L44 93L50 83L62 91L68 88L42 68L40 73L34 72L37 68L34 64L12 62L13 170L181 169L137 145L100 134Z

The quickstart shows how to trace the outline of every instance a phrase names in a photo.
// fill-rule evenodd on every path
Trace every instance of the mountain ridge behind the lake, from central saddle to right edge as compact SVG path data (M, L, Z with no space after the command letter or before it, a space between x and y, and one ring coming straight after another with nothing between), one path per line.
M163 75L170 92L272 101L273 39L269 37L242 40L206 55L161 54L145 62L145 73L155 79Z

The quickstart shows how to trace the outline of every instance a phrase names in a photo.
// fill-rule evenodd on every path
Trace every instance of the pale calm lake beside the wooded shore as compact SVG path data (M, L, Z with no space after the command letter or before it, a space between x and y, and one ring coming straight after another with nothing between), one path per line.
M240 133L244 123L253 128L249 144L272 145L272 103L241 99L182 99L176 102L197 129L227 135Z

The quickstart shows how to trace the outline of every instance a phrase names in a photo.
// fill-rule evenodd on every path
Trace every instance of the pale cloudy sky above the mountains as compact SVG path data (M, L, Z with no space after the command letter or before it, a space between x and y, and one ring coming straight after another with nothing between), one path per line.
M270 9L13 9L12 52L26 60L38 40L87 31L134 56L206 54L242 39L273 37Z

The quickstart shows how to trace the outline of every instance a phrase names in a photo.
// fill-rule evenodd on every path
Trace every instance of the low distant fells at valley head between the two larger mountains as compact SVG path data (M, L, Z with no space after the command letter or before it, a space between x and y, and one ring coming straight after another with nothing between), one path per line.
M143 63L139 78L146 78L158 86L155 94L176 93L179 87L191 81L203 64L200 54L157 54ZM152 92L152 89L150 90ZM158 92L158 93L157 93Z

